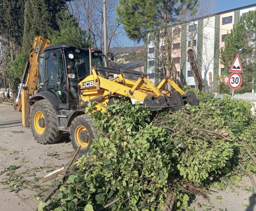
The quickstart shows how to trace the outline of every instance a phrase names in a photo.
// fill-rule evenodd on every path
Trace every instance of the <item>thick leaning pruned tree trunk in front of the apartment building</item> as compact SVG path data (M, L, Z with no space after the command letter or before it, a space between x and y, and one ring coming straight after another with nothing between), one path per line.
M193 49L188 49L187 53L190 61L190 69L192 70L195 79L195 88L199 89L200 91L204 91L205 82L198 67L198 60L195 56L195 51Z

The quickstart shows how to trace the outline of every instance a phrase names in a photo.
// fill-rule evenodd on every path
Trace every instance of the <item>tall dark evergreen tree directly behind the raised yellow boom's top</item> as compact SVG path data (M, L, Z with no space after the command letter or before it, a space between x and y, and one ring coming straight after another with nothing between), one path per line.
M65 8L67 0L27 0L25 3L25 25L23 48L30 50L36 36L48 36L59 30L57 17Z

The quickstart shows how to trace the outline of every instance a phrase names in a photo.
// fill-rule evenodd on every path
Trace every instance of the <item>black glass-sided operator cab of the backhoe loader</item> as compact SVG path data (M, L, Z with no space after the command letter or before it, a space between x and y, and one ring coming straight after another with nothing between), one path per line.
M103 67L101 50L92 50L92 66ZM77 105L78 83L90 75L89 50L71 45L53 45L39 55L37 87L53 94L59 107Z

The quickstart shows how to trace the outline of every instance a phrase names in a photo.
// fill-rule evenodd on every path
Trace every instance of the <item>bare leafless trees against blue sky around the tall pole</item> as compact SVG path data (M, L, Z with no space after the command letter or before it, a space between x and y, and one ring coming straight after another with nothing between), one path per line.
M118 42L118 35L122 33L120 23L115 20L117 0L106 0L107 35L109 47ZM103 1L102 0L74 0L68 3L68 12L77 17L82 29L90 32L96 48L104 48Z

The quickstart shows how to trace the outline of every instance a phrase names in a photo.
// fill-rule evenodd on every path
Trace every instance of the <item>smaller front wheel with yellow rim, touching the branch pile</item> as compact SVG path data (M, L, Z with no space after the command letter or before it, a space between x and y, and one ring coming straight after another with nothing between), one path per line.
M92 119L86 114L74 118L69 128L69 132L74 150L76 151L79 145L81 145L78 154L86 154L92 144L93 138L98 137L97 129L94 128Z

